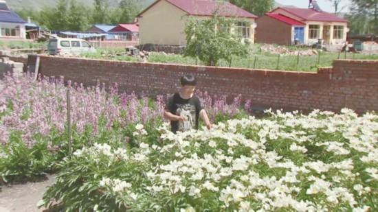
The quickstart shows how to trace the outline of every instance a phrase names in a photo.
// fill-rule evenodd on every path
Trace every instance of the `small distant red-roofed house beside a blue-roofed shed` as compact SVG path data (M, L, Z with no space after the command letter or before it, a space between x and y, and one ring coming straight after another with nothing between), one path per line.
M108 31L115 40L139 40L139 25L137 23L120 23Z

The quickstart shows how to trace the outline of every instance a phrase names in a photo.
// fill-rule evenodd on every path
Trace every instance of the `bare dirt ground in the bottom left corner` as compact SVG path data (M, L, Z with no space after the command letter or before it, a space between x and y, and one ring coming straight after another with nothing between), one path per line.
M42 199L47 186L55 182L54 175L48 175L47 180L41 182L27 182L10 187L1 187L0 212L36 212L36 204Z

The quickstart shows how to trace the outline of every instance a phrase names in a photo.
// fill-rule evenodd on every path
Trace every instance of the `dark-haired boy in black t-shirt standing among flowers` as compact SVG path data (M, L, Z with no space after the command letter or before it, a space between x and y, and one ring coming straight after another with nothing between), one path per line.
M210 130L212 124L209 121L208 114L202 108L199 98L194 95L197 80L193 75L184 75L180 81L181 91L168 99L164 110L164 117L170 120L172 132L183 132L190 129L198 130L199 117Z

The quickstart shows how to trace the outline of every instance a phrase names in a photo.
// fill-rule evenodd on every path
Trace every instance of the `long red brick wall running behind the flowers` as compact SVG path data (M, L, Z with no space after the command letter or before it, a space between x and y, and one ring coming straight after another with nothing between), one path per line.
M333 68L305 73L41 56L39 70L87 86L116 82L120 91L150 95L174 93L179 77L192 73L201 91L241 94L258 108L378 111L378 61L335 60Z

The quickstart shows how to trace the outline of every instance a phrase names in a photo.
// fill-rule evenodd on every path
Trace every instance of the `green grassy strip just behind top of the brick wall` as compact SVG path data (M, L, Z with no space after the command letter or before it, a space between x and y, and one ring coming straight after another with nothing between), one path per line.
M249 56L246 58L234 57L231 61L231 67L250 68L250 69L278 69L287 71L317 71L319 67L331 67L333 60L355 59L355 60L378 60L378 55L366 55L359 53L331 53L321 52L320 55L313 56L278 56L277 54L263 53L259 45L251 48ZM140 58L130 56L111 56L122 52L123 49L98 49L96 54L82 54L86 58L102 58L109 60L121 61L139 61ZM278 59L279 57L279 59ZM279 60L279 61L278 61ZM179 54L163 54L151 52L147 62L173 63L173 64L192 64L203 65L203 62L195 58L184 57ZM230 61L221 60L218 67L230 67Z

